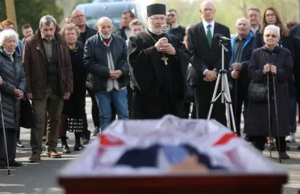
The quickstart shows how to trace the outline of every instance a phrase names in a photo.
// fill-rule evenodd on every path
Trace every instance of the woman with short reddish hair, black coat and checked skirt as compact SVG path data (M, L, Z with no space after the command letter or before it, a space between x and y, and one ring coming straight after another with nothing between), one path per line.
M77 41L77 37L80 35L80 30L74 23L66 24L61 32L69 44L69 52L71 56L71 63L73 69L73 84L74 91L71 94L69 100L64 102L64 108L62 115L66 116L66 119L62 119L62 123L66 121L66 125L61 127L65 128L63 131L74 132L75 134L75 146L74 151L80 151L84 148L80 142L80 133L87 128L86 119L86 79L87 71L84 66L84 45ZM62 118L65 118L65 117ZM62 139L63 153L71 153L66 140L66 133L60 132Z

